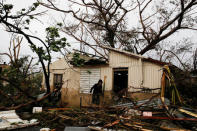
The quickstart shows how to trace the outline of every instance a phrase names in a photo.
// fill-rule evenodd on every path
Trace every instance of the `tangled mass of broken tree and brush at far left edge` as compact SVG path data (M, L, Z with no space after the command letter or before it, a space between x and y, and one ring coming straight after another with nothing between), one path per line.
M17 42L17 44L16 44ZM41 88L42 74L35 72L37 64L32 64L30 56L20 56L22 38L14 38L10 42L9 53L0 53L8 56L10 62L2 67L0 72L0 105L16 106L35 97Z

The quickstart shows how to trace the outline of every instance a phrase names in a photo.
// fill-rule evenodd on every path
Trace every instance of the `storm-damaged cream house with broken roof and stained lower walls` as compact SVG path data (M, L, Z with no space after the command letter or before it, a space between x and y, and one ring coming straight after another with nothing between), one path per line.
M91 106L91 87L103 81L101 104L111 104L113 96L124 91L127 97L147 99L160 92L163 62L119 49L106 48L108 61L80 55L83 66L68 64L64 58L50 66L51 89L61 86L62 103L68 106ZM68 56L71 59L72 55ZM71 62L72 63L72 62Z

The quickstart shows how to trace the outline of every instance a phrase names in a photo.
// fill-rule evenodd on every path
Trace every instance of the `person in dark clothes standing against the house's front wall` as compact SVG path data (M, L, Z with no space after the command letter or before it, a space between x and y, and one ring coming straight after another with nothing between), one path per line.
M92 103L93 104L100 104L100 95L102 94L102 84L103 81L100 79L98 83L96 83L91 89L90 93L92 93L93 90L93 95L92 95Z

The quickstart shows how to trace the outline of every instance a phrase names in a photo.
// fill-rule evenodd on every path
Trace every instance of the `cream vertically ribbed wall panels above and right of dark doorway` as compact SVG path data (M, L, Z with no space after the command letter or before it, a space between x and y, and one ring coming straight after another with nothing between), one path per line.
M140 61L140 59L125 56L124 54L110 51L109 64L111 68L128 67L128 85L135 88L160 88L161 87L161 66ZM139 91L129 88L129 91Z

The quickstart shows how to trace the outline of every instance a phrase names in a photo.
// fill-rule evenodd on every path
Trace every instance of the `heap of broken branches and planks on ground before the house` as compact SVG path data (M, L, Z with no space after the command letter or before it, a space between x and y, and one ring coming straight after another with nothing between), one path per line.
M155 104L150 104L153 101ZM65 127L88 127L92 130L197 130L194 110L161 106L161 101L131 104L105 108L55 108L48 109L34 117L43 126L64 129ZM139 103L141 103L140 101ZM168 102L167 102L168 103ZM188 113L189 112L189 113ZM39 116L39 117L38 117Z

